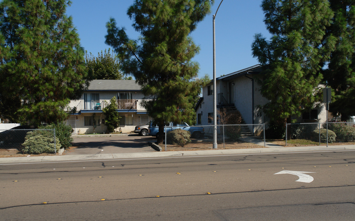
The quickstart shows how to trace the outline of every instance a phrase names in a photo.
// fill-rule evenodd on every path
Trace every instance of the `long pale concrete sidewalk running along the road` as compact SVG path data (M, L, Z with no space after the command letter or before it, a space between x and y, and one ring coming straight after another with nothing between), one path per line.
M132 158L162 158L162 157L189 157L189 156L212 156L212 155L244 155L244 154L267 154L267 153L295 153L310 151L351 151L355 145L339 146L306 146L306 147L269 147L255 149L216 149L206 151L166 151L166 152L143 152L143 153L108 153L108 154L84 154L84 155L59 155L43 157L11 157L0 158L1 164L11 163L35 163L35 162L65 162L85 160L114 160Z

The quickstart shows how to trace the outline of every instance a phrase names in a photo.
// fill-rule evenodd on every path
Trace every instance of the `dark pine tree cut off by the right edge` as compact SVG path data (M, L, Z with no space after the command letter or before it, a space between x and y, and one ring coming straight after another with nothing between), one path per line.
M330 3L335 15L327 32L337 40L324 72L324 83L335 93L330 111L342 115L342 121L346 121L348 115L355 114L355 1L330 0Z

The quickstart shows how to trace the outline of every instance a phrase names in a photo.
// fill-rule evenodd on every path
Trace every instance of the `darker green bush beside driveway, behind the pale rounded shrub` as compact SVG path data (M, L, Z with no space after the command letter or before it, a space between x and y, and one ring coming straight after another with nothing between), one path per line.
M71 147L71 142L73 142L73 138L71 137L71 133L73 129L70 125L66 125L62 121L57 121L56 123L51 123L47 126L40 126L39 129L53 129L55 128L55 137L59 139L62 148Z

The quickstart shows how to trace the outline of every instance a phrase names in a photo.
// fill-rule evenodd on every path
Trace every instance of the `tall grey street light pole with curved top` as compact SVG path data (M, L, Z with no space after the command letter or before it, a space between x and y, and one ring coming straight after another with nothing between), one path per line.
M222 4L222 1L219 3L218 8ZM213 149L217 149L216 39L215 39L214 20L217 15L218 8L216 13L213 15Z

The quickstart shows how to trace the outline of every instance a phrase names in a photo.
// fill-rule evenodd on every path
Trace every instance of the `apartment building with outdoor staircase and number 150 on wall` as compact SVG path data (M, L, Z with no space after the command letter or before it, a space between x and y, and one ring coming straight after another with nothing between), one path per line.
M213 82L202 89L202 97L197 103L195 110L198 125L212 123L209 116L213 116L213 93L217 93L217 110L223 107L236 108L242 115L246 124L267 124L268 118L260 107L268 103L268 100L261 95L261 85L257 79L262 79L262 66L245 68L219 78L216 78L216 90L213 89ZM324 104L314 105L310 113L305 112L299 123L325 122L326 111Z

